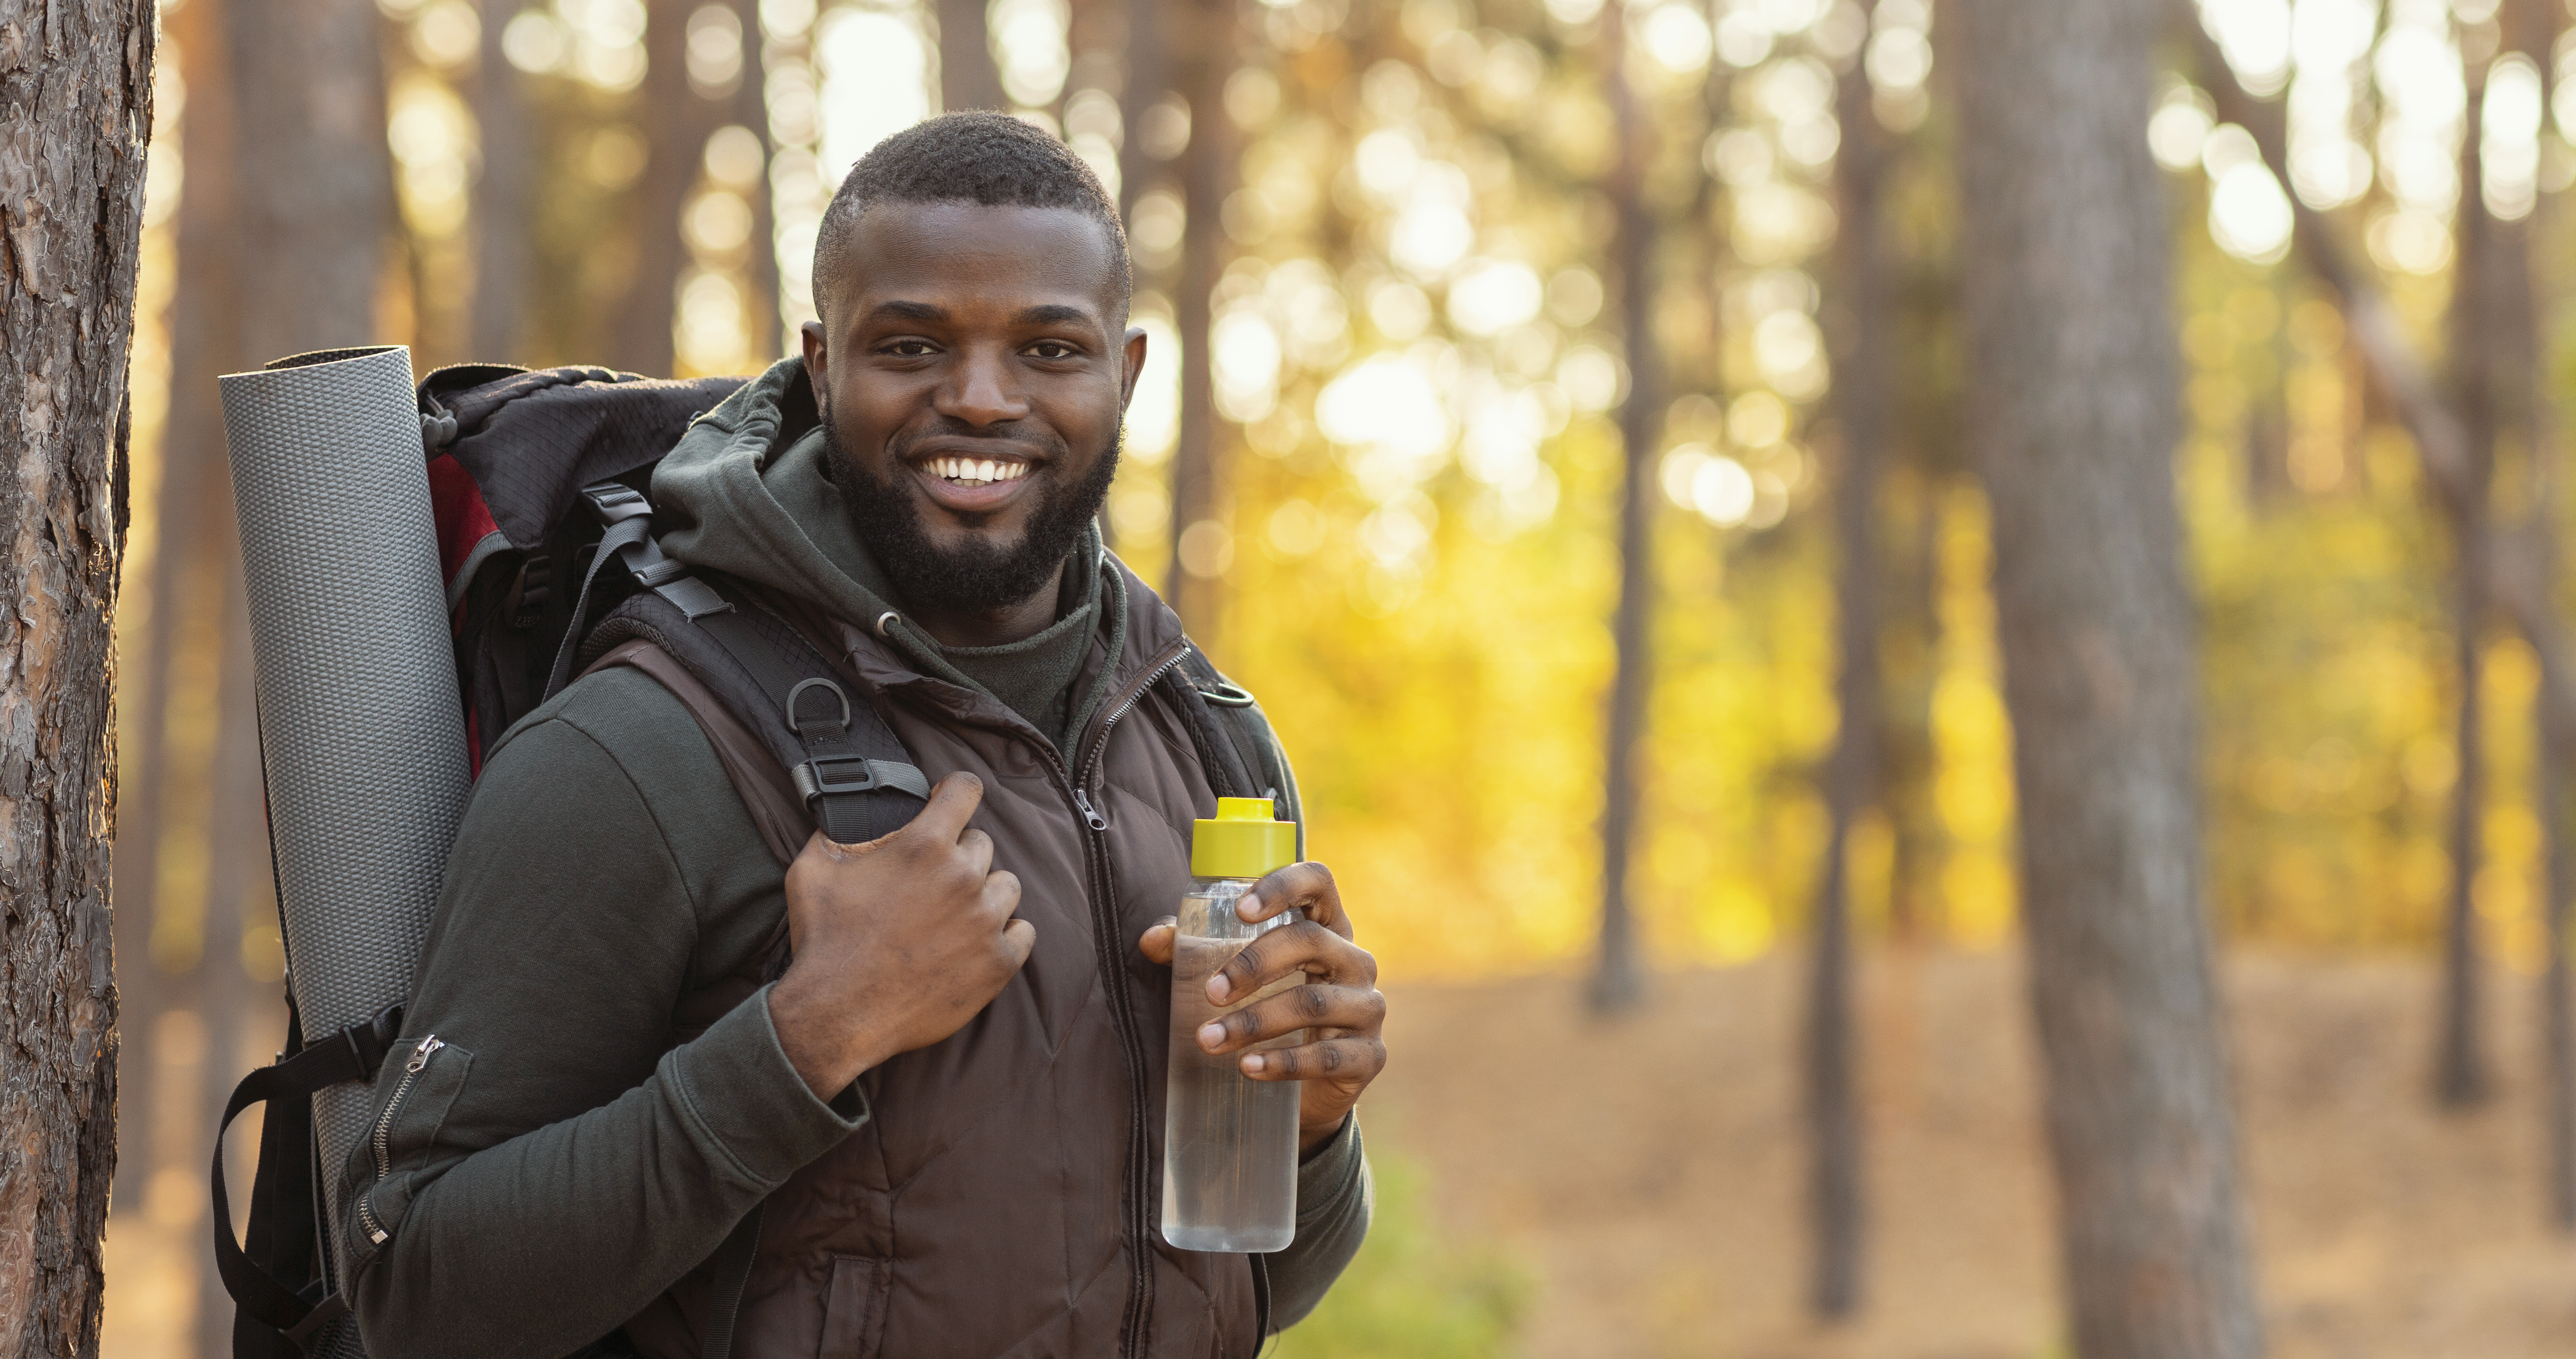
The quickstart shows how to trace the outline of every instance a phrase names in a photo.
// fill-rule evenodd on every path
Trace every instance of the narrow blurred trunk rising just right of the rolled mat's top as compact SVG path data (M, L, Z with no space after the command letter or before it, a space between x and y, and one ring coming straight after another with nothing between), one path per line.
M482 0L482 54L474 62L474 129L482 178L474 181L474 312L466 358L515 364L526 353L528 286L536 263L536 121L526 77L500 49L518 0Z

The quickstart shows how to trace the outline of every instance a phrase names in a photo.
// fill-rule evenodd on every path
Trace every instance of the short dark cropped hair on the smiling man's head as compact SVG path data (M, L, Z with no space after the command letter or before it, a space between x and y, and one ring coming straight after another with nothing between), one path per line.
M850 271L850 235L876 204L984 204L1072 209L1110 235L1118 258L1118 312L1136 289L1126 224L1100 175L1051 134L1007 113L969 111L922 119L878 142L840 181L814 235L814 312L829 317Z

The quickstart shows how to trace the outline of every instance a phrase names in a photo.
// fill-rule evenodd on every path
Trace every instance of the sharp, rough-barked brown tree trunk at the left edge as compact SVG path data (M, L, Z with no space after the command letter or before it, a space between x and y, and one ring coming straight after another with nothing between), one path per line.
M152 8L0 0L0 1351L95 1354L116 1171L111 621Z

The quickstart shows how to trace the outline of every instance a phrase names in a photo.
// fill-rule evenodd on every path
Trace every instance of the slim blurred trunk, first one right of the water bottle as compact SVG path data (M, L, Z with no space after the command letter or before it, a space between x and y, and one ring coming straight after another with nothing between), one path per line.
M1646 111L1628 83L1625 15L1602 8L1602 52L1607 52L1610 126L1618 160L1607 199L1615 214L1610 268L1618 271L1620 343L1628 351L1628 395L1618 407L1623 446L1618 505L1618 606L1610 637L1618 663L1610 678L1607 761L1602 771L1602 941L1592 967L1589 1003L1595 1013L1636 1008L1646 998L1646 972L1638 959L1636 910L1628 895L1628 861L1636 841L1638 738L1646 730L1646 701L1654 691L1654 438L1664 418L1662 356L1654 338L1654 245L1656 224L1646 206Z

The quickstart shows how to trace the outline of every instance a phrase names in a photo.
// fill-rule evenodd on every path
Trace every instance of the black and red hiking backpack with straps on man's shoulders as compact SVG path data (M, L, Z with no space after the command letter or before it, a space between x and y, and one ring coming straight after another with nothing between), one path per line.
M690 709L765 843L788 861L811 828L842 843L902 828L930 784L884 714L840 683L791 609L654 544L654 467L742 382L461 364L420 382L420 444L474 774L520 717L572 678L631 665ZM811 389L799 379L783 433L814 420ZM1252 694L1195 647L1159 683L1216 792L1270 797L1283 820L1298 823L1303 851L1296 779ZM778 771L793 792L783 792ZM330 1279L322 1176L337 1166L319 1163L312 1096L374 1080L399 1034L402 1006L389 1006L307 1042L289 988L278 1062L242 1078L224 1104L211 1173L214 1258L234 1300L234 1359L291 1359L317 1346L358 1351L353 1323L343 1320L348 1302ZM250 1233L234 1240L222 1129L252 1104L268 1104L268 1114ZM752 1209L716 1253L711 1359L732 1346L757 1233ZM325 1344L332 1336L345 1344Z

